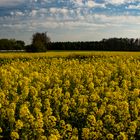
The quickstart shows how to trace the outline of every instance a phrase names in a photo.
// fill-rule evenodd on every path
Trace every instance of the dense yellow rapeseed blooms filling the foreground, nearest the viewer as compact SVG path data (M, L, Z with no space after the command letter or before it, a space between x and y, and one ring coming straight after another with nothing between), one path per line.
M0 54L0 139L140 139L140 55L18 55Z

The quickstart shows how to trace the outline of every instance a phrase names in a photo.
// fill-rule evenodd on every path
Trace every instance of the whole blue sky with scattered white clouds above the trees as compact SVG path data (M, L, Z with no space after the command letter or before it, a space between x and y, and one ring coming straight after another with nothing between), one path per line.
M31 42L140 38L140 0L0 0L0 38Z

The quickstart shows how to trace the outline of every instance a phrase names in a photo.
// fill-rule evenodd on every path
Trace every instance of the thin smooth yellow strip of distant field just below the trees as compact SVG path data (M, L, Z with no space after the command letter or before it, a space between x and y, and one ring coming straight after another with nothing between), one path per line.
M109 52L109 51L48 51L46 53L0 53L0 58L22 57L66 57L69 55L107 55L107 56L140 56L140 52Z

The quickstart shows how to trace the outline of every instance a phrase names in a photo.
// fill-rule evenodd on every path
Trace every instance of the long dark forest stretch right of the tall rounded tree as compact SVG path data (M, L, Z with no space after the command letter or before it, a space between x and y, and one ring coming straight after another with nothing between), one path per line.
M89 42L52 42L48 50L140 51L140 39L109 38Z

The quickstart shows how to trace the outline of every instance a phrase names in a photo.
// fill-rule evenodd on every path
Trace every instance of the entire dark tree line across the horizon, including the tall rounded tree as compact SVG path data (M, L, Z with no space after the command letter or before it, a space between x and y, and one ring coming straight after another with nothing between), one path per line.
M47 33L35 33L30 45L15 39L0 39L0 50L25 50L46 52L47 50L95 50L95 51L140 51L140 39L109 38L88 42L51 42Z

